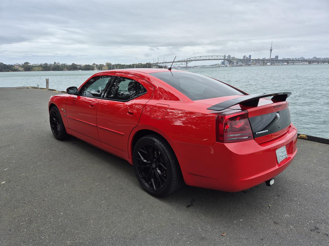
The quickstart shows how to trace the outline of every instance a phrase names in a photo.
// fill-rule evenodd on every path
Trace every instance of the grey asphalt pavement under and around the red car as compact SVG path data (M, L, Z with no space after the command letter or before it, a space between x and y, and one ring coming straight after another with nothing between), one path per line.
M329 145L298 139L272 187L156 198L128 162L53 137L54 94L0 88L0 245L329 245Z

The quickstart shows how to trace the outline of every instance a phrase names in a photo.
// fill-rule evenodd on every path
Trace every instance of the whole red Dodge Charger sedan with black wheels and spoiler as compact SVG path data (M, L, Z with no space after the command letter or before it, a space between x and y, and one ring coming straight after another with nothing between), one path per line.
M290 94L249 95L185 71L102 71L50 97L50 126L59 140L72 135L127 160L152 195L184 183L237 192L272 185L293 160Z

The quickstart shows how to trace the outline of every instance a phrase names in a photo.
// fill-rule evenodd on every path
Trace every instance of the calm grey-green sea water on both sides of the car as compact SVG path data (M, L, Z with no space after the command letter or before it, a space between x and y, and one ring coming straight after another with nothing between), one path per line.
M291 120L298 133L329 138L329 65L253 66L194 68L190 72L207 75L248 93L292 92ZM1 72L0 87L37 86L64 91L79 87L92 71Z

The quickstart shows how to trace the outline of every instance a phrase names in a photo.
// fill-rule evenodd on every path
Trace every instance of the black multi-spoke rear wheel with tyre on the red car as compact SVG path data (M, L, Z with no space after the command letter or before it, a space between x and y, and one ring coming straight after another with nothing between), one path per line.
M139 183L151 195L166 196L184 184L176 155L161 136L140 138L134 148L133 163Z

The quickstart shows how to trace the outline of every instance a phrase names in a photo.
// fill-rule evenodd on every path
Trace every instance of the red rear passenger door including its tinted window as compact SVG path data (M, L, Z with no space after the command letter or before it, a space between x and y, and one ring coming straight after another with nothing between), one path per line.
M103 147L128 157L128 138L153 94L144 79L116 73L105 99L98 102L97 127Z

